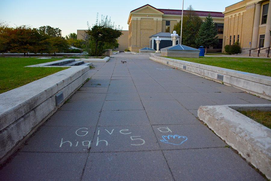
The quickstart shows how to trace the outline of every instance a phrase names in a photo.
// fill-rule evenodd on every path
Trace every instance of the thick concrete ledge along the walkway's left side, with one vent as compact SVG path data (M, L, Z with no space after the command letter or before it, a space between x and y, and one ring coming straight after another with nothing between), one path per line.
M89 66L73 66L0 94L0 164L3 164L89 75ZM55 95L61 92L63 101L56 105Z

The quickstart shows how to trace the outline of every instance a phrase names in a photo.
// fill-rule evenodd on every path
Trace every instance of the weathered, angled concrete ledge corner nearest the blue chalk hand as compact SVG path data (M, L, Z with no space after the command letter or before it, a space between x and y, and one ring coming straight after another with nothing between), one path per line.
M198 118L271 179L271 129L236 111L257 108L270 111L271 104L200 106Z

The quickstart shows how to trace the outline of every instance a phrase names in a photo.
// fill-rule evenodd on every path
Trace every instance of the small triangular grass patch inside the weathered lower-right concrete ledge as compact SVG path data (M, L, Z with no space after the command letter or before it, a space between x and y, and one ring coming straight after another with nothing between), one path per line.
M239 111L250 119L271 129L271 111Z

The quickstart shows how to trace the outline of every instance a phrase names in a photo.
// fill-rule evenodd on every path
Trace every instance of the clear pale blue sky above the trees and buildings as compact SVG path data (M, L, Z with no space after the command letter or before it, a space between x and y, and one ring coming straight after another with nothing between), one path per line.
M201 11L225 11L225 7L239 0L185 0L184 9L189 5ZM149 4L155 8L181 9L182 0L0 0L0 21L10 26L31 25L38 28L43 25L58 27L65 36L77 29L87 29L95 22L96 14L111 16L115 24L128 30L129 12Z

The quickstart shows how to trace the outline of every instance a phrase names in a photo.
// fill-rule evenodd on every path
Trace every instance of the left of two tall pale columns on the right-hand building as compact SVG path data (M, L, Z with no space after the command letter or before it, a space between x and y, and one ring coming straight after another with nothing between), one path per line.
M256 3L251 48L258 47L259 25L261 16L261 3Z

